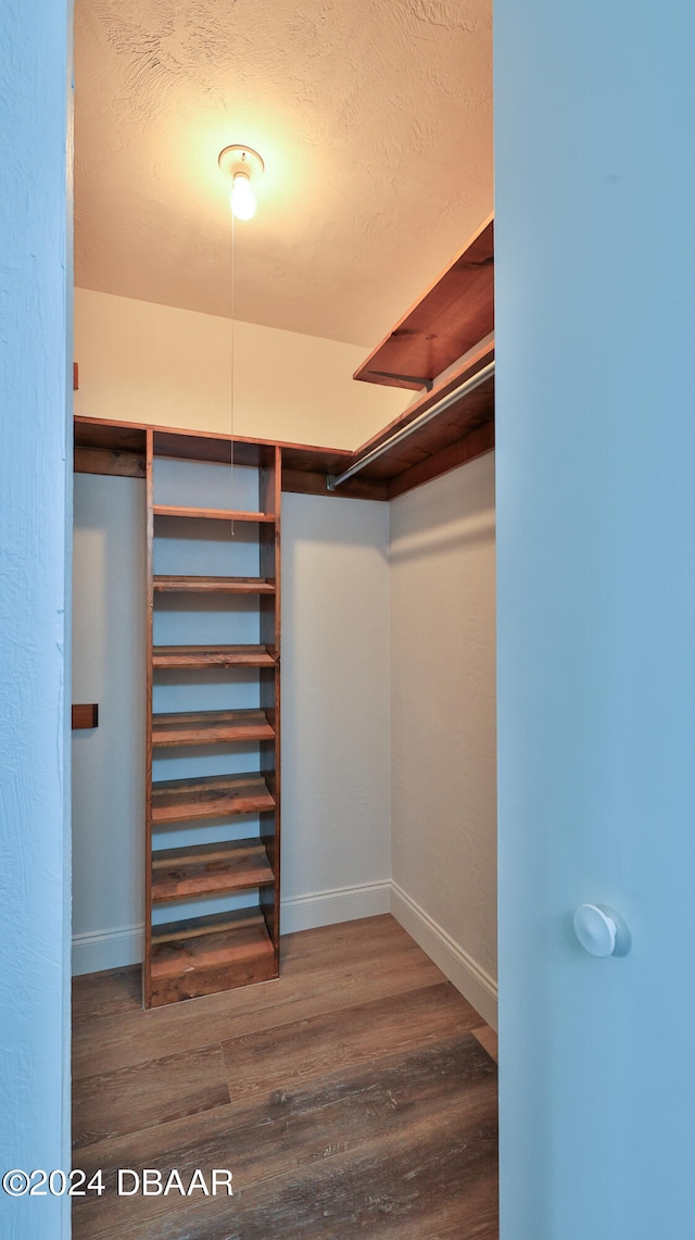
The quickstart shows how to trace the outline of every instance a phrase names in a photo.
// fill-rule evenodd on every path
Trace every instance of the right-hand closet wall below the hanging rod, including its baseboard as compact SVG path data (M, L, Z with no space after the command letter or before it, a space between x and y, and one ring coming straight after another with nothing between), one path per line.
M494 1024L494 454L390 513L393 910Z

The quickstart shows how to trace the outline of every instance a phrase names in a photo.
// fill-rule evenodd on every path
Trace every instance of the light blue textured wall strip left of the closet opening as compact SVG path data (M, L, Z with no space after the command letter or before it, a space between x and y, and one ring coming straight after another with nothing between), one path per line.
M69 1168L64 0L0 6L0 1171ZM2 1240L69 1234L0 1193Z

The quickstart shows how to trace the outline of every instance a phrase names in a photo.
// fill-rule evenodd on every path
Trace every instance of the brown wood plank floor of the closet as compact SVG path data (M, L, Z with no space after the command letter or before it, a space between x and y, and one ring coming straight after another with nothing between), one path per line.
M494 1034L390 916L287 935L279 981L140 1009L77 978L74 1240L496 1240ZM234 1195L118 1197L116 1168ZM130 1184L131 1180L128 1180Z

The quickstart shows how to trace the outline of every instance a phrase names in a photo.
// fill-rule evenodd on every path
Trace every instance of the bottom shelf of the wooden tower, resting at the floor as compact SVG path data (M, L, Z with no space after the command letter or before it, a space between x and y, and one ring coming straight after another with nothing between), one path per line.
M235 920L229 924L230 919ZM209 928L199 932L196 926L206 921ZM152 932L152 1007L278 977L276 952L258 908L199 918L188 924L193 928L190 934L185 925L172 923L171 939L162 937L166 926Z

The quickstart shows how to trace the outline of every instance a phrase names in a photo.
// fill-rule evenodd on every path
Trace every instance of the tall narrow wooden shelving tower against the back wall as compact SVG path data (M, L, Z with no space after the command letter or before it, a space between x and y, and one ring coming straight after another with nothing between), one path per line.
M269 981L279 973L280 929L280 450L275 445L233 444L235 465L258 471L258 507L253 511L175 506L155 502L155 463L161 455L175 460L221 463L217 440L203 453L190 451L191 438L145 433L147 492L147 750L146 750L146 919L144 1003L157 1007L178 999L209 994L250 982ZM195 449L193 441L193 449ZM225 441L229 460L230 441ZM97 449L103 451L103 449ZM199 533L199 522L229 523L229 553L234 557L233 527L254 538L258 575L204 575L155 572L156 534L183 522L176 538L187 544ZM224 533L216 533L224 541ZM175 543L175 547L178 546ZM198 544L192 544L197 554ZM255 554L255 552L254 552ZM170 557L171 558L171 557ZM188 563L191 558L188 557ZM168 565L167 565L168 567ZM157 600L170 598L167 613L186 608L191 596L217 596L219 608L244 606L256 615L256 642L157 645ZM177 603L177 598L181 599ZM239 599L238 603L234 600ZM254 600L255 599L255 605ZM225 601L228 600L228 601ZM190 604L188 604L190 606ZM196 603L196 608L209 604ZM230 613L233 624L234 613ZM190 624L196 624L196 614ZM258 704L229 709L156 711L154 694L166 673L167 682L196 671L219 684L234 684L242 672L258 682ZM230 678L230 680L229 680ZM207 683L207 682L206 682ZM243 746L243 749L242 749ZM161 779L156 764L173 754L204 758L249 750L253 770L197 774ZM161 756L160 756L161 755ZM217 760L217 758L216 758ZM240 759L239 759L240 761ZM245 763L245 756L244 756ZM232 765L235 760L232 761ZM248 835L249 818L256 826ZM237 826L235 826L237 823ZM219 831L230 838L219 839ZM185 842L172 847L171 832ZM244 833L244 838L234 838ZM206 835L206 832L208 835ZM212 832L213 838L209 837ZM191 842L195 841L195 842ZM199 841L199 842L198 842ZM242 908L206 913L211 900L242 900ZM180 913L185 901L186 911ZM167 908L176 919L162 920Z

